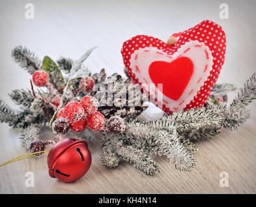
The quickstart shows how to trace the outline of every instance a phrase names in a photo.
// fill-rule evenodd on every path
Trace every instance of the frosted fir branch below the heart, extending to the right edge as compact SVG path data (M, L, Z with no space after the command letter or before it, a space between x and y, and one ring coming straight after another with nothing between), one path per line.
M231 105L209 105L202 109L174 113L168 116L175 122L180 135L191 140L211 138L220 133L219 129L237 129L249 118L247 105L256 99L256 78L253 74L240 89ZM165 118L163 118L165 119Z

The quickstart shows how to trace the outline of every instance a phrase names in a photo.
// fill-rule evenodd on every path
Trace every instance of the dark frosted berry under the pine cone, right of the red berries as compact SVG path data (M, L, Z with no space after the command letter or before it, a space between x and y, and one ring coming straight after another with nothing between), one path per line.
M106 129L111 133L122 133L125 130L124 120L120 116L112 116L106 123Z

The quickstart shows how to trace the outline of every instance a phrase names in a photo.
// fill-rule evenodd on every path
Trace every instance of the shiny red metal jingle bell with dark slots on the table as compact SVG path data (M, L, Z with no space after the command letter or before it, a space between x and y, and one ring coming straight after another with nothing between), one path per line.
M50 150L47 157L49 175L64 182L74 182L91 166L91 153L85 140L65 138Z

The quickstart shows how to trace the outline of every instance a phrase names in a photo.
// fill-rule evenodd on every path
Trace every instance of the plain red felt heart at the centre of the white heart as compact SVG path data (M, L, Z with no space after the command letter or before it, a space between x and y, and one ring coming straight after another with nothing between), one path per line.
M190 58L180 57L169 62L154 61L148 69L152 82L163 84L161 92L172 100L178 100L185 91L193 73L194 65Z

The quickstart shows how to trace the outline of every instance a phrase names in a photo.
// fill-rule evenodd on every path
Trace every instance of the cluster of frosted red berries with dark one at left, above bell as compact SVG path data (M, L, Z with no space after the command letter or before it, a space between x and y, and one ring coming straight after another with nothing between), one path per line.
M93 96L84 96L80 102L71 101L60 109L57 119L52 124L56 133L67 133L67 124L76 132L84 131L86 126L94 131L100 131L105 124L105 118L98 109L98 102Z

